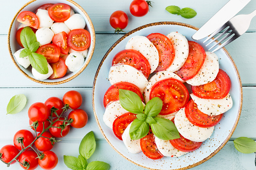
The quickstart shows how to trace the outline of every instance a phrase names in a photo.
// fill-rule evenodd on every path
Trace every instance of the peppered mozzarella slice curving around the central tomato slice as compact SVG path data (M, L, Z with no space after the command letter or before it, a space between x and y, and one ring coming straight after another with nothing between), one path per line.
M181 81L182 83L185 83L186 81L182 80L177 74L170 72L170 71L160 71L157 72L154 76L152 76L150 78L150 80L147 83L146 88L144 89L143 95L144 95L144 99L145 99L145 103L147 103L149 101L149 96L150 96L150 92L151 92L151 88L152 86L163 79L167 79L167 78L175 78L179 81Z

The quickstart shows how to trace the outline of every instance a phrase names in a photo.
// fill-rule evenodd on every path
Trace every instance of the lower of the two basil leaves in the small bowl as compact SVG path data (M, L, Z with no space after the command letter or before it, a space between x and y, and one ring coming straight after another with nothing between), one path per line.
M29 61L31 66L36 69L37 72L40 74L47 74L48 73L48 64L46 58L37 53L30 53Z

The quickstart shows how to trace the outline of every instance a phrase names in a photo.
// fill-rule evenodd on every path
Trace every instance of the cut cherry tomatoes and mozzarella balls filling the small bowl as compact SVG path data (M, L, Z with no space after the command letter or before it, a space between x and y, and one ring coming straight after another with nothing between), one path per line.
M75 72L83 65L91 44L91 35L85 30L86 21L82 15L75 14L70 6L62 3L44 4L35 13L21 12L17 20L21 25L16 33L16 40L22 49L14 53L16 61L25 69L31 62L37 62L33 55L29 56L30 53L27 53L26 57L20 56L24 49L31 49L27 45L24 47L21 41L24 37L21 37L22 30L30 27L39 42L39 47L31 52L44 56L48 63L46 74L40 73L40 70L32 65L32 74L36 79L61 78L68 71Z

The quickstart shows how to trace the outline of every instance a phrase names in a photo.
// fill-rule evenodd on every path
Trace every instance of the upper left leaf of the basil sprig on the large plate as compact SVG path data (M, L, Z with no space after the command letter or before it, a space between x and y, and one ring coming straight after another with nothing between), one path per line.
M125 110L134 114L143 113L144 108L141 99L136 93L130 90L119 89L119 100Z

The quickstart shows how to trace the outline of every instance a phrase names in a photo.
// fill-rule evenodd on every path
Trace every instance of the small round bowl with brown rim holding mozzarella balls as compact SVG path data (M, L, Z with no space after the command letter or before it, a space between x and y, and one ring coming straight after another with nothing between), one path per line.
M37 80L34 78L34 76L31 73L31 69L32 67L29 66L27 69L25 69L24 67L20 66L15 57L14 57L14 53L16 51L18 51L19 49L21 49L21 47L18 45L17 41L16 41L16 32L18 30L18 27L20 26L20 23L17 21L17 16L19 15L20 12L23 11L31 11L33 13L36 12L37 8L44 5L44 4L57 4L57 3L64 3L69 5L75 13L78 13L80 15L83 16L84 20L86 20L86 30L89 31L89 33L91 34L91 45L88 48L88 55L86 57L86 59L84 60L83 65L80 67L80 69L78 69L75 72L69 72L67 73L64 77L59 78L59 79L46 79L46 80ZM30 80L33 80L37 83L41 83L41 84L47 84L47 85L54 85L54 84L61 84L61 83L65 83L68 82L70 80L72 80L73 78L75 78L76 76L78 76L89 64L93 53L94 53L94 48L95 48L95 31L94 31L94 26L93 23L90 19L90 17L88 16L88 14L86 13L86 11L84 11L78 4L76 4L75 2L73 2L72 0L32 0L30 2L28 2L27 4L25 4L15 15L10 29L9 29L9 33L8 33L8 47L9 47L9 52L11 55L11 58L15 64L15 66L22 72L23 75L25 75L27 78L29 78Z

